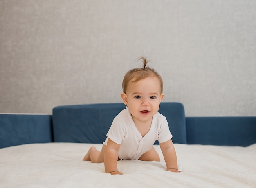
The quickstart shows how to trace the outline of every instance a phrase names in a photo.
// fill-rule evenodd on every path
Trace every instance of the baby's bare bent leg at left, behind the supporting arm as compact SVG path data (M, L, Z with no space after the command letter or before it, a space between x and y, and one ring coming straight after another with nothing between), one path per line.
M106 146L103 145L101 151L98 151L94 146L90 147L89 151L83 157L83 161L92 161L92 163L104 162L104 153Z

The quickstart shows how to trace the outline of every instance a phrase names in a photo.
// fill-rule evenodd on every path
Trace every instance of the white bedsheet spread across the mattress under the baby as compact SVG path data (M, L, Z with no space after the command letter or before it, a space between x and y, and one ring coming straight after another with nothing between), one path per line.
M0 188L256 188L256 144L248 147L174 144L182 173L161 162L118 161L124 175L104 173L104 164L82 161L90 146L102 144L26 144L0 149Z

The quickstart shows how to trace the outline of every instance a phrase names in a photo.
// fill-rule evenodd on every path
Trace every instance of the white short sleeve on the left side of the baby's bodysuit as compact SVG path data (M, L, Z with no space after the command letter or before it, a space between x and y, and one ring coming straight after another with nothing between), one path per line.
M110 138L113 142L121 145L122 140L124 140L125 133L126 129L124 122L120 118L115 117L107 133L108 138Z

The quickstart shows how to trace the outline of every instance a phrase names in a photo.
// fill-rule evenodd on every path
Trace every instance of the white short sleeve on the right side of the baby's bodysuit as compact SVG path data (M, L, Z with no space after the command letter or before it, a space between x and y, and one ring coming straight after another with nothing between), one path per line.
M173 138L170 132L168 122L164 116L159 120L158 124L158 142L163 143Z

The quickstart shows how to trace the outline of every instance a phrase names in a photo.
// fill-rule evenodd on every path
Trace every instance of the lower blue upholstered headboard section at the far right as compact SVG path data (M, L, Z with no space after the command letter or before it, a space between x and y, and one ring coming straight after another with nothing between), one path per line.
M249 146L256 143L256 117L186 117L188 144Z

